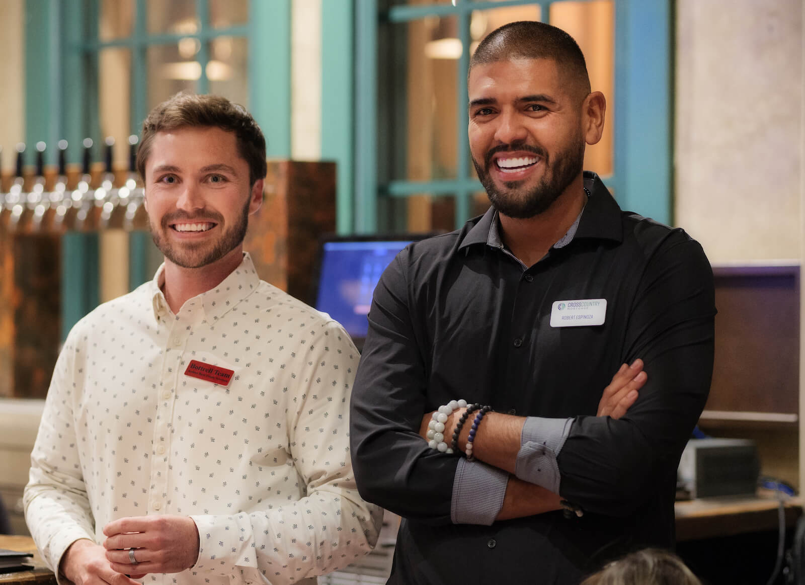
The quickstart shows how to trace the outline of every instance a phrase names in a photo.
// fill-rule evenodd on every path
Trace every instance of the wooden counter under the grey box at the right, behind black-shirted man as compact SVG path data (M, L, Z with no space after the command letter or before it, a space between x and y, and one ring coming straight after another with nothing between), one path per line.
M802 497L786 497L786 527L803 515ZM678 501L675 505L676 540L716 538L776 530L779 503L774 497L722 496Z

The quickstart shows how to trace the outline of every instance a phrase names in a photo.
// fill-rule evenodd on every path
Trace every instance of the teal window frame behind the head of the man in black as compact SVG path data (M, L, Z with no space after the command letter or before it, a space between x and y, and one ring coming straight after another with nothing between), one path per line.
M456 95L459 152L456 179L414 182L378 180L378 25L409 22L428 15L455 15L464 52L458 68L469 67L469 18L473 10L505 6L539 5L548 14L548 0L506 0L388 6L382 0L333 0L323 2L322 59L328 63L323 78L323 96L340 88L343 80L354 81L350 104L342 99L322 101L322 154L343 165L352 181L340 179L338 229L341 233L375 233L378 230L378 201L382 197L407 197L415 193L452 195L456 198L456 227L469 219L470 195L481 191L481 183L469 178L467 138L468 101L466 83ZM334 5L338 6L334 6ZM329 5L329 6L328 6ZM334 51L348 47L347 32L339 33L341 19L335 10L353 10L353 64L332 64ZM673 18L671 0L615 0L615 89L607 96L614 104L613 174L605 182L613 189L621 208L670 224L672 217L673 152ZM325 60L326 57L326 60ZM462 80L464 76L459 75ZM352 105L352 107L350 107ZM336 144L332 120L339 127L350 126L354 134ZM343 137L344 134L341 134ZM325 149L326 146L326 149Z

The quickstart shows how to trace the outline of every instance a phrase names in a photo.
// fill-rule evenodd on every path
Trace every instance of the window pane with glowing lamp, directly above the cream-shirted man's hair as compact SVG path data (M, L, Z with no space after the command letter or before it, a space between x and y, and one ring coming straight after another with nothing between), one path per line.
M180 43L148 47L147 64L149 110L183 89L196 93L201 64L184 58Z

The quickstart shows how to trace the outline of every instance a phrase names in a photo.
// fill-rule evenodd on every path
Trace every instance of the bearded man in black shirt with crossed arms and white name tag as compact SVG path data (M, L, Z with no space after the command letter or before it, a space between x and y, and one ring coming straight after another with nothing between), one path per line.
M390 264L352 397L358 488L403 517L389 583L579 583L674 545L712 271L681 229L621 211L582 171L605 107L547 24L497 29L470 62L492 207Z

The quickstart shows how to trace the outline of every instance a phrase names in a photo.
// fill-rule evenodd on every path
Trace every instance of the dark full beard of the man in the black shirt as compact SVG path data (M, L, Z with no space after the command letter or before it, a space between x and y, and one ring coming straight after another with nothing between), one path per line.
M545 172L539 183L529 192L518 196L518 187L522 181L504 181L505 191L498 192L492 177L489 175L489 165L493 154L506 152L507 150L526 150L533 152L543 159ZM538 216L547 211L553 202L564 193L564 190L578 177L584 169L584 140L580 140L576 145L571 145L567 150L561 151L551 159L547 152L539 146L528 146L526 144L512 143L496 146L486 153L485 166L481 168L473 156L473 164L478 173L478 179L483 184L486 195L493 208L498 213L517 220L526 220L530 217Z

